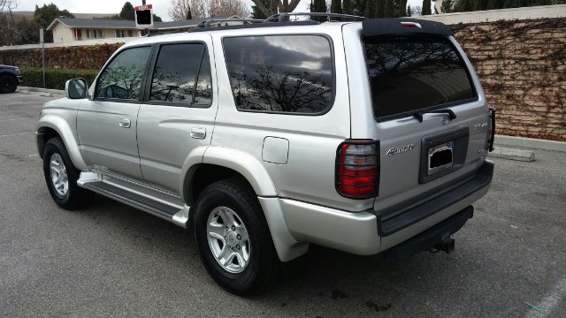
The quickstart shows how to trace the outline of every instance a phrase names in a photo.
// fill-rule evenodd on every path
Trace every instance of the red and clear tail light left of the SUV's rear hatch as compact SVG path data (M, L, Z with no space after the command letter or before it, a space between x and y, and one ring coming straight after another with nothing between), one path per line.
M336 154L336 191L367 199L379 191L379 140L346 140Z

